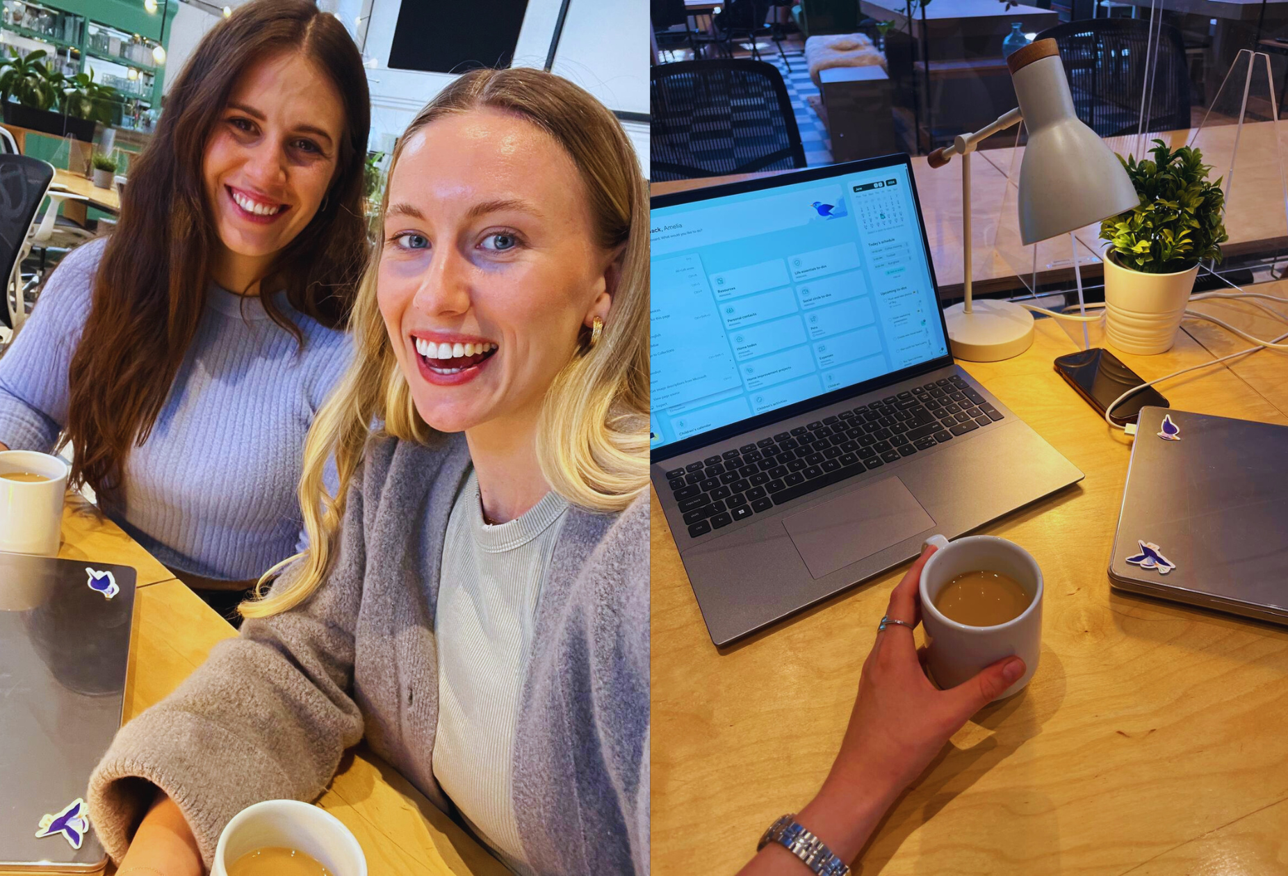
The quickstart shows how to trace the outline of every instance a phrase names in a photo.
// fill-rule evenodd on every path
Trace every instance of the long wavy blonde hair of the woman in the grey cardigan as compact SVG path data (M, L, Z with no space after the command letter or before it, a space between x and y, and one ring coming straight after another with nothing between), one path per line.
M621 251L612 308L599 343L589 331L572 361L546 390L537 429L541 474L573 505L620 511L648 484L648 187L621 124L601 103L565 79L532 68L475 70L455 80L412 121L394 148L390 178L403 146L448 113L492 108L537 125L577 166L605 251ZM389 205L386 187L381 213ZM353 365L318 411L304 444L300 510L309 538L303 554L278 563L259 580L245 617L268 617L299 605L317 590L335 553L344 499L372 437L426 443L433 430L420 417L398 366L376 301L381 247L375 247L349 326ZM383 423L379 432L371 424ZM335 459L332 496L323 470ZM446 526L446 520L443 522ZM265 585L300 560L265 595Z

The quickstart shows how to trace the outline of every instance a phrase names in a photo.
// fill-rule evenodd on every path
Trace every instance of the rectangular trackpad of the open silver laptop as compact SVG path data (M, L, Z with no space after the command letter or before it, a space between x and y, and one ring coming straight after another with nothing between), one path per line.
M837 496L783 520L815 578L935 526L899 478Z

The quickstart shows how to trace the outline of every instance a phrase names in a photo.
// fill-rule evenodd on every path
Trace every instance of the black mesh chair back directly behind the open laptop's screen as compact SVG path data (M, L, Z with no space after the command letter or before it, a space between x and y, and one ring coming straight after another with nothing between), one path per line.
M649 167L654 180L805 166L783 75L746 58L653 67Z

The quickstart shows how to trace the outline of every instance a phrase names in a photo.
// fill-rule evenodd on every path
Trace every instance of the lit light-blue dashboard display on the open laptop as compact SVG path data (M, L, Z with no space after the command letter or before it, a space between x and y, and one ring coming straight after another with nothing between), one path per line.
M652 447L944 356L899 165L652 211Z

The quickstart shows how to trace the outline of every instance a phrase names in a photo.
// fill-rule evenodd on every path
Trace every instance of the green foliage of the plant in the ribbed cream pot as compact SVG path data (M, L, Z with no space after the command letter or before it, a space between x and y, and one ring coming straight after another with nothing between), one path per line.
M1203 153L1182 146L1175 152L1154 140L1154 160L1123 158L1140 204L1100 223L1101 240L1124 268L1141 273L1188 271L1202 259L1221 260L1229 240L1221 211L1221 180L1208 182L1212 169Z

